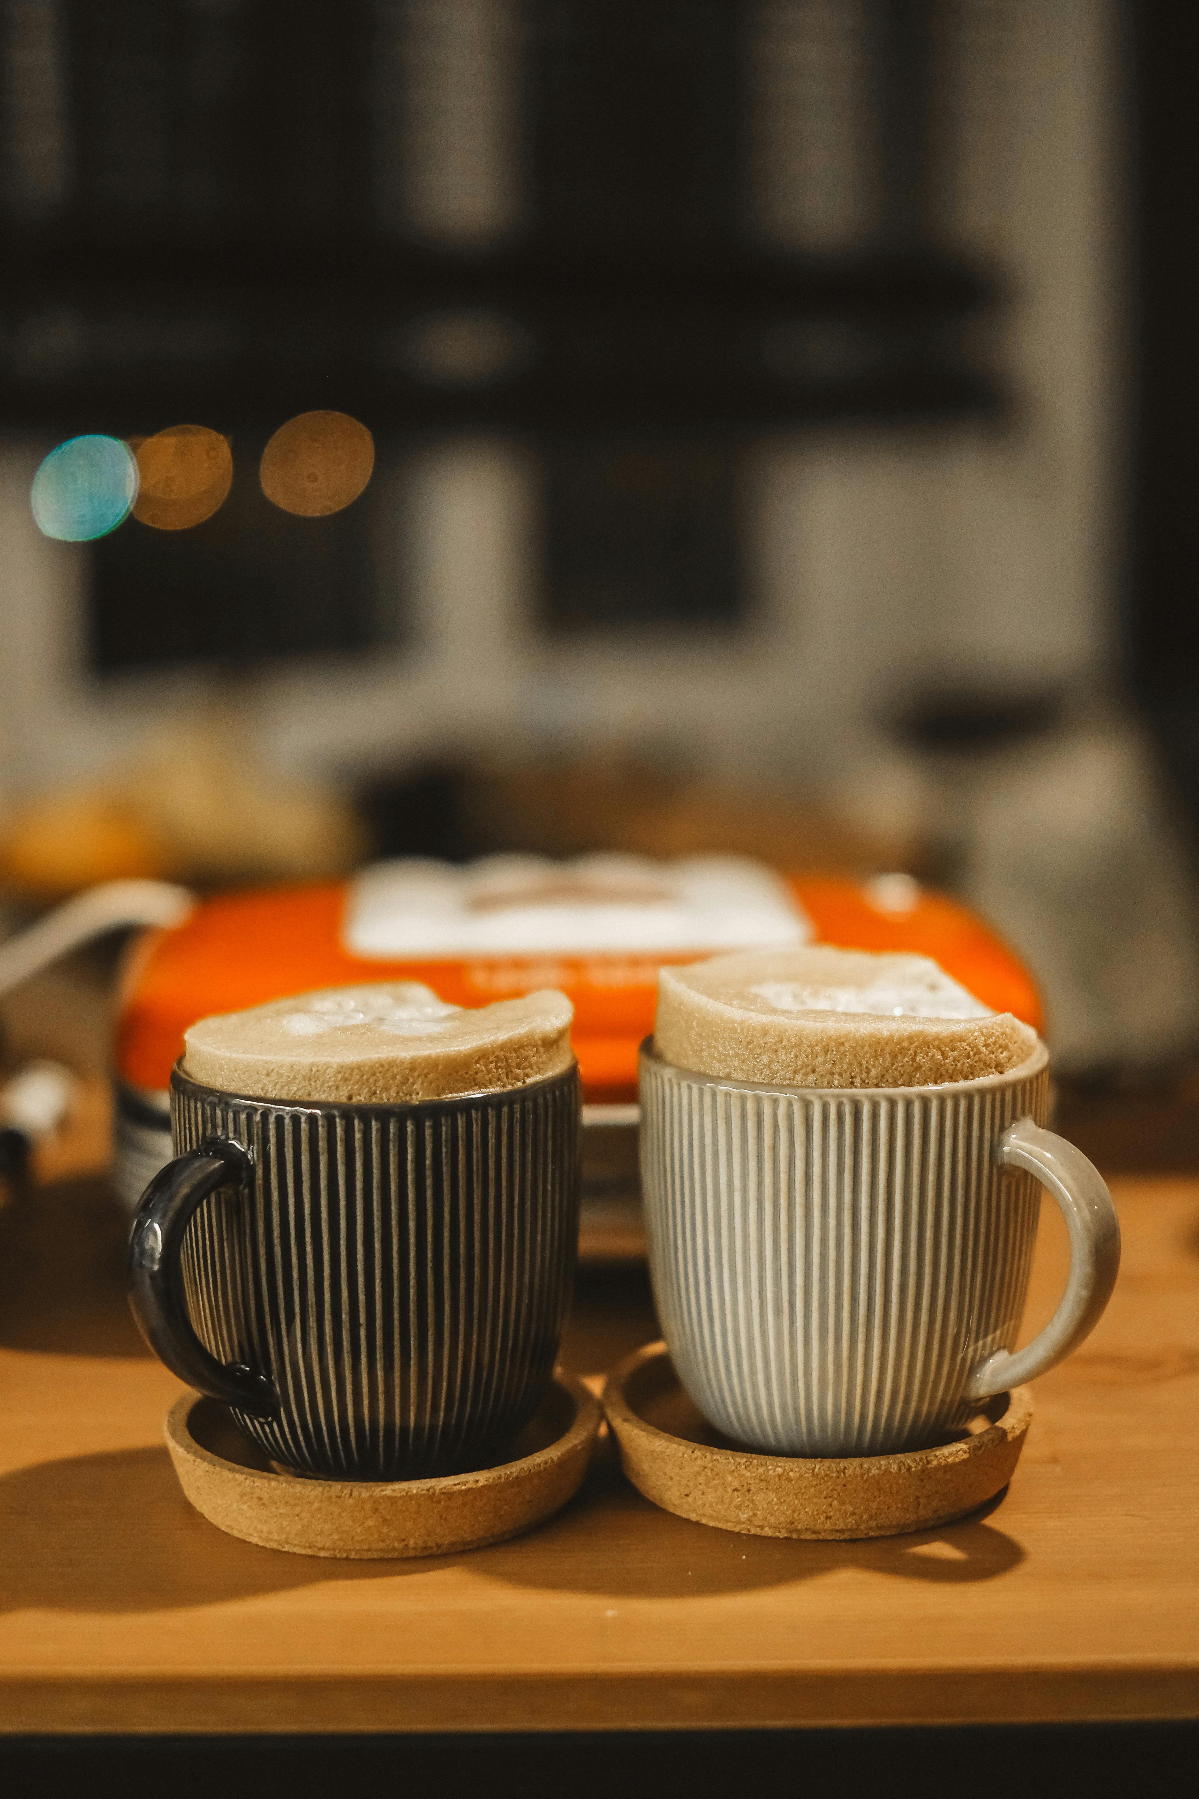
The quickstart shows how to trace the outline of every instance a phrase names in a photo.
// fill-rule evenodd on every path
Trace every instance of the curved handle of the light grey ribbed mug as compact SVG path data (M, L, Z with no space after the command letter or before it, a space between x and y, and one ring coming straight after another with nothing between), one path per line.
M1030 1344L1016 1353L998 1349L980 1362L965 1389L967 1400L990 1400L1057 1367L1098 1324L1120 1268L1116 1207L1107 1182L1082 1150L1032 1119L1017 1119L999 1137L996 1160L1035 1175L1057 1200L1070 1231L1070 1279L1057 1311Z

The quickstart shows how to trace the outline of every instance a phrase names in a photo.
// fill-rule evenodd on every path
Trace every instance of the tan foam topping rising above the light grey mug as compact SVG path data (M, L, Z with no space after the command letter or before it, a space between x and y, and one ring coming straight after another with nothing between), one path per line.
M663 968L654 1043L735 1081L933 1087L1019 1067L1037 1038L924 955L813 946Z

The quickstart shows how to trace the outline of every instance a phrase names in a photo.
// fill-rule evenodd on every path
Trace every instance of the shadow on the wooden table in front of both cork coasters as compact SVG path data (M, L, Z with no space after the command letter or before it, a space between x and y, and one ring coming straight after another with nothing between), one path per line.
M467 1560L333 1562L243 1544L192 1511L165 1448L77 1455L5 1475L0 1542L0 1614L171 1612L318 1581L401 1580ZM627 1486L608 1446L557 1518L469 1556L473 1571L502 1585L644 1599L751 1592L847 1567L980 1581L1019 1560L1019 1547L985 1513L942 1531L859 1544L714 1531L656 1511Z

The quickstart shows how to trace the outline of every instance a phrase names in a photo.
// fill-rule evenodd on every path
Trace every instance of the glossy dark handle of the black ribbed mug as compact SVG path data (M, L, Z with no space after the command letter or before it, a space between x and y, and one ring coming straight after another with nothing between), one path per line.
M205 1137L155 1175L129 1232L129 1306L149 1347L189 1387L252 1418L277 1418L270 1380L243 1362L218 1362L200 1342L183 1293L183 1234L200 1202L218 1187L244 1189L252 1168L232 1137Z

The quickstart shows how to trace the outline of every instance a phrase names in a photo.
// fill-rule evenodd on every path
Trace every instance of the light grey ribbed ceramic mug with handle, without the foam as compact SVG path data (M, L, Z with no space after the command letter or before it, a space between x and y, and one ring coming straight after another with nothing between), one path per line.
M678 1376L724 1436L775 1455L944 1441L1070 1355L1120 1265L1111 1195L1044 1130L1044 1045L946 1087L787 1088L692 1074L642 1045L649 1266ZM1041 1191L1070 1281L1016 1340Z

